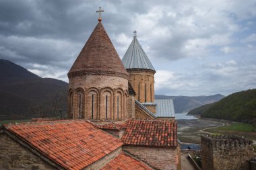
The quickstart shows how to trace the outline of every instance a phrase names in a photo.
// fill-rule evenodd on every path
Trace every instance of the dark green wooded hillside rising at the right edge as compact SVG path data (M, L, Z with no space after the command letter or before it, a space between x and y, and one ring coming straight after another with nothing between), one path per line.
M232 93L216 103L191 110L189 114L201 114L203 118L251 122L256 119L256 89Z

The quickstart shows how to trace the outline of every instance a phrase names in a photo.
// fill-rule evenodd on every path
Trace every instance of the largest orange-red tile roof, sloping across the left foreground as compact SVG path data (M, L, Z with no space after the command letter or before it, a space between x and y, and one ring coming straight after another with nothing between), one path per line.
M87 167L123 145L121 140L94 127L86 120L4 126L65 169Z

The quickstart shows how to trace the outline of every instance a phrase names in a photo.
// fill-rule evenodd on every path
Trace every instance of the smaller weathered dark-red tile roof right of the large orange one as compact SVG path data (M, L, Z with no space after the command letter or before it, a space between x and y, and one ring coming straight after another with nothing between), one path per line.
M129 120L121 140L133 146L177 146L177 122L174 120Z

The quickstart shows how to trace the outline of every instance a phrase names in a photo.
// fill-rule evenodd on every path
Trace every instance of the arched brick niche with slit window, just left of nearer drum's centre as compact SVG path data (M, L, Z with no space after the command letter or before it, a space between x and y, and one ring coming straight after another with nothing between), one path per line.
M90 91L88 93L88 119L98 118L98 94L96 91Z

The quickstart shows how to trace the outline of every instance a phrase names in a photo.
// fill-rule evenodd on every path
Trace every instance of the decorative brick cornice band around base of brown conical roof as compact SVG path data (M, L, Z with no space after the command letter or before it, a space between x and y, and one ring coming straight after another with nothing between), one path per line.
M112 76L112 77L121 77L123 79L129 80L129 75L125 73L117 73L115 71L74 71L67 74L67 77L79 77L79 76L86 76L86 75L105 75L105 76Z

